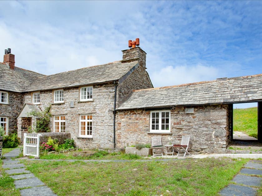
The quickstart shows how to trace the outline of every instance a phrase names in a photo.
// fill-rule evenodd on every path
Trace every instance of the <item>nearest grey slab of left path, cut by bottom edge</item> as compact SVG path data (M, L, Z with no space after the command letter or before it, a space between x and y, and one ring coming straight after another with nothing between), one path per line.
M20 190L20 193L22 196L39 196L39 195L45 195L45 196L55 196L52 192L52 190L47 186L40 186L40 187L34 187L30 189L22 189Z

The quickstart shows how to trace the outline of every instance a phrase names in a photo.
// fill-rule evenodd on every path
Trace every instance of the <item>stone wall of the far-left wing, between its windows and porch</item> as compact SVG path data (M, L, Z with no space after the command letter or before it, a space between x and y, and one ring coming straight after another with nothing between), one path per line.
M0 104L0 116L8 117L8 131L17 130L17 115L22 109L22 94L8 92L8 104Z

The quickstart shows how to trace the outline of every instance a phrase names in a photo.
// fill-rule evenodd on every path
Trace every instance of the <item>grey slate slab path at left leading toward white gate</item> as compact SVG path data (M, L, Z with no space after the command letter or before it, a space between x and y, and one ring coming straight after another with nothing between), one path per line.
M25 165L20 163L18 160L12 160L11 158L18 156L20 149L16 148L9 153L4 154L3 156L6 159L3 159L3 168L11 178L15 179L16 189L21 189L20 193L22 196L54 196L52 190L47 187L41 180L36 178L34 174L26 170Z

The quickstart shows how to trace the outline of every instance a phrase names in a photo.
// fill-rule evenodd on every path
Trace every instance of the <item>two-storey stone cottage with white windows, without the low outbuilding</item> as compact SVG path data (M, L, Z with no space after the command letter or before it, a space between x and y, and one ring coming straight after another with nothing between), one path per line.
M49 76L15 67L14 55L6 53L0 64L1 125L8 133L18 124L20 138L36 121L28 113L51 105L52 132L70 132L83 148L115 147L116 106L130 91L153 87L139 47L123 50L120 61Z

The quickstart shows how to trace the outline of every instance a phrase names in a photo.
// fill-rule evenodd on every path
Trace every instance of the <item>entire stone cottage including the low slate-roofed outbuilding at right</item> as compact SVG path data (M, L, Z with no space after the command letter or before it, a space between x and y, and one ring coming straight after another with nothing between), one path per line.
M258 102L262 130L262 74L153 88L140 47L113 63L45 76L17 68L11 50L0 63L0 119L6 134L34 126L28 116L51 105L52 132L70 132L82 148L122 148L190 135L195 152L225 152L232 139L233 103ZM17 125L17 127L16 127Z

